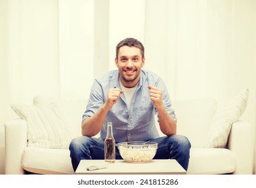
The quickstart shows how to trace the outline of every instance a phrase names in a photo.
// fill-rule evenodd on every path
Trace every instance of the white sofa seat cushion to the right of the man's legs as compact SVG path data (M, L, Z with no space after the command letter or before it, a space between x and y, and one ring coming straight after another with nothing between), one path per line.
M226 148L191 148L187 174L227 174L235 167L234 154Z

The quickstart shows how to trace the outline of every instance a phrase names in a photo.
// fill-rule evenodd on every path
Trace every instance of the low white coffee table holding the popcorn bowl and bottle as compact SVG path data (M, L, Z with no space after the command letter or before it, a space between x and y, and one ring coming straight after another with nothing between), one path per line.
M92 165L105 164L104 160L81 160L75 174L78 175L104 175L104 174L142 174L142 175L185 175L186 171L181 167L177 160L152 160L147 163L129 163L125 160L116 160L115 163L110 163L105 169L88 171L87 167Z

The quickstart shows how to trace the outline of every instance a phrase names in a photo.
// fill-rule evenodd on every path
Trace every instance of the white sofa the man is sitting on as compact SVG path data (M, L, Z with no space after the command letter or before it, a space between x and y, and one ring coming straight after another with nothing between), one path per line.
M86 101L61 100L36 96L34 105L51 104L67 123L71 138L81 135L82 113ZM191 141L191 153L187 174L252 174L253 137L251 124L236 121L232 124L225 148L205 147L205 140L216 113L214 99L172 101L177 114L178 134ZM28 146L28 121L17 118L5 123L5 174L73 174L68 148L41 148ZM157 125L158 126L158 125ZM70 140L67 140L68 142Z

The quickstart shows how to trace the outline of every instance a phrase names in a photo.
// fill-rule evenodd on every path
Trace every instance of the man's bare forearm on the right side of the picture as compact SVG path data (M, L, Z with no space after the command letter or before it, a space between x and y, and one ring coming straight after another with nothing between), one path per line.
M177 133L177 124L174 118L168 114L165 107L158 109L159 125L162 133L171 136Z

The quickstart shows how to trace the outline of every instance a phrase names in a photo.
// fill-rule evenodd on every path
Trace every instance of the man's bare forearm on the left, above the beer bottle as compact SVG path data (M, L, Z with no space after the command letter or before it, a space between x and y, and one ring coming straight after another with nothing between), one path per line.
M108 113L108 109L106 105L103 105L92 117L84 120L82 122L82 135L92 137L98 134L106 119L106 113Z

